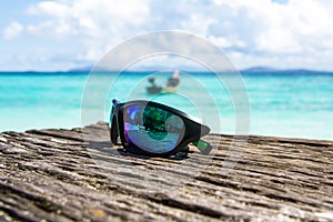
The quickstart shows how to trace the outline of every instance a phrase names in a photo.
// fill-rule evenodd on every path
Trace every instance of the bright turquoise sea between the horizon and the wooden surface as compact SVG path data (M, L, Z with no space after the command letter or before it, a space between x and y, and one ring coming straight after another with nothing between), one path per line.
M111 75L114 79L115 73ZM94 90L90 87L85 93L92 100L109 94L104 98L105 121L112 98L154 99L200 115L209 125L216 123L213 112L218 110L220 128L212 127L213 131L228 134L235 131L230 85L221 84L213 73L184 74L179 94L160 97L145 92L147 74L140 72L121 74L109 92L102 92L99 81L105 82L111 75L101 74ZM243 72L242 78L251 108L250 134L333 140L333 73ZM160 79L157 75L157 83L163 85L165 79L167 74ZM0 131L81 127L81 101L89 81L89 72L1 72ZM193 81L198 85L190 83ZM208 95L213 99L206 100Z

